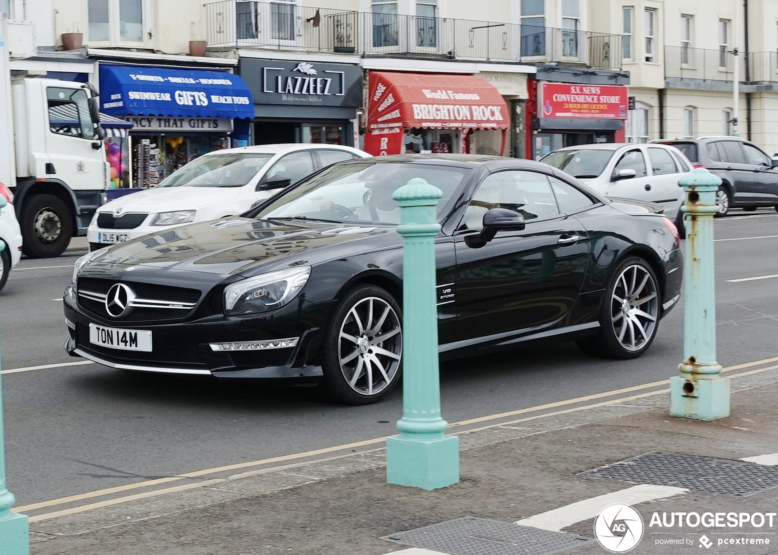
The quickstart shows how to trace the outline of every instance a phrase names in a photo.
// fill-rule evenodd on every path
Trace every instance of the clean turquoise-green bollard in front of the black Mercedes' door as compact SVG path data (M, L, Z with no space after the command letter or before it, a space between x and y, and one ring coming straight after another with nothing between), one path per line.
M459 481L459 438L444 435L436 307L436 206L443 193L415 178L394 191L404 239L403 378L400 435L387 438L387 482L436 490Z

